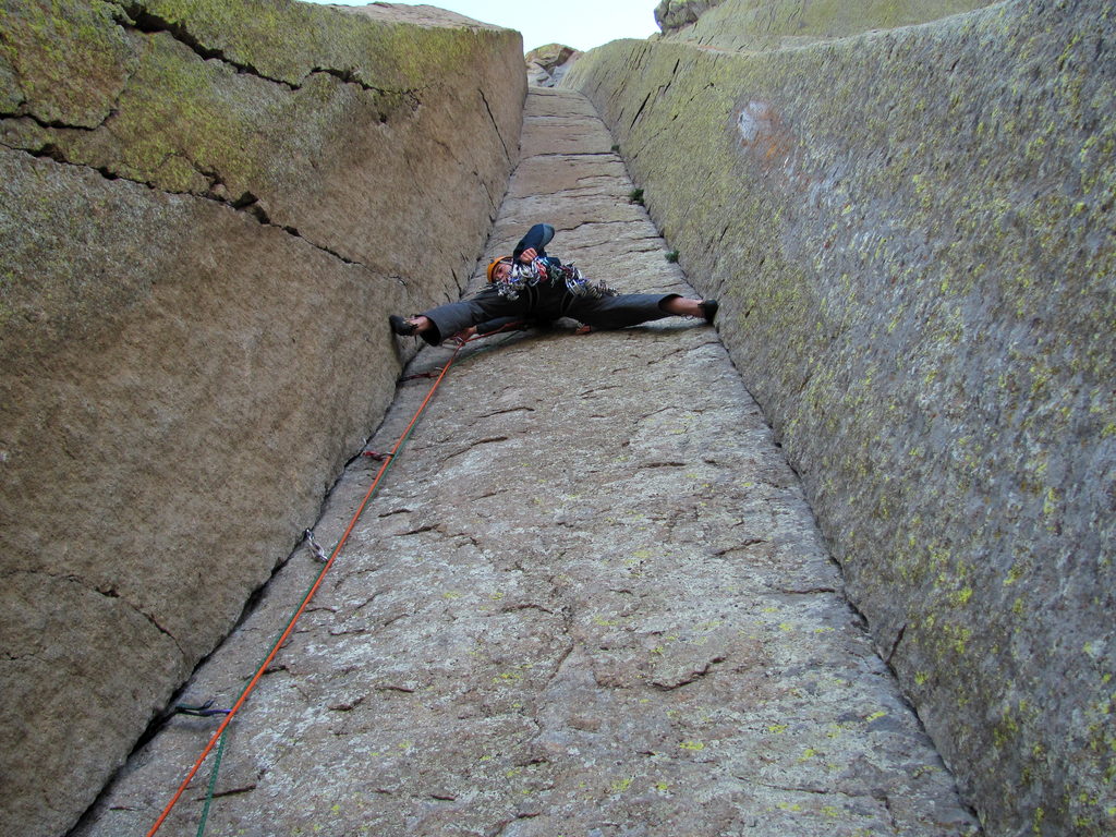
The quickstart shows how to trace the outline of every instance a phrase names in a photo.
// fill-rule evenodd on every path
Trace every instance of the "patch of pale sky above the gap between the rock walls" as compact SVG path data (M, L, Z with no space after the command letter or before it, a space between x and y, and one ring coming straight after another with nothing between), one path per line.
M344 0L307 0L344 2ZM545 44L593 49L617 38L646 38L657 32L658 0L392 0L403 6L436 6L459 15L518 29L523 50ZM346 6L365 6L349 0Z

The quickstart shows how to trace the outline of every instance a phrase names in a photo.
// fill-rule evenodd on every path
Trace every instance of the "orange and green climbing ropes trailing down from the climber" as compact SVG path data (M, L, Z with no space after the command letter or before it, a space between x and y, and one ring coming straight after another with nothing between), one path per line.
M511 325L518 325L518 324L511 324ZM349 523L346 527L345 532L341 535L340 540L337 541L337 546L334 547L333 552L328 557L326 556L326 551L315 540L314 531L311 529L307 529L302 532L302 536L305 540L309 543L310 549L314 551L315 557L323 562L320 571L318 573L316 579L314 580L314 584L310 585L310 588L302 596L301 604L298 606L298 609L287 622L286 628L283 628L283 632L279 635L279 638L276 639L275 644L271 646L271 651L268 652L267 656L263 658L263 662L261 662L260 665L257 667L256 674L252 675L251 680L241 691L240 696L237 698L237 701L232 704L232 706L230 709L214 710L212 709L213 701L209 701L200 706L186 706L185 709L182 710L185 714L199 715L203 718L211 715L212 716L223 715L224 718L221 721L220 725L217 728L217 730L213 732L213 734L210 737L209 742L202 749L201 754L194 760L193 766L186 772L186 776L182 780L182 783L179 785L179 788L177 790L175 790L174 796L171 797L171 800L163 808L163 811L158 815L158 818L155 820L155 824L151 827L151 830L147 831L146 837L153 837L153 835L156 831L158 831L158 829L162 827L163 822L166 821L166 818L171 815L171 811L173 810L174 806L177 805L179 799L182 798L182 795L190 786L190 782L193 781L194 776L201 769L201 766L204 763L206 757L209 757L210 752L212 752L213 748L215 747L217 753L213 759L213 769L210 773L209 788L205 795L205 804L202 808L202 815L198 826L198 837L202 837L202 834L205 830L205 821L209 818L210 804L213 800L213 790L217 786L218 770L221 767L221 758L224 752L225 732L229 729L229 724L232 722L232 719L240 711L240 708L244 705L244 702L248 700L249 694L251 694L252 690L256 689L257 684L263 677L263 674L271 666L271 663L272 661L275 661L276 655L279 653L279 650L283 646L287 639L290 638L290 635L295 631L295 624L306 612L308 605L310 604L310 600L314 598L314 595L318 591L318 588L321 586L321 581L325 579L326 574L329 571L330 567L333 567L334 561L337 560L337 556L340 554L343 547L345 546L346 541L349 538L349 535L352 535L353 529L356 528L357 521L364 513L365 507L368 504L368 501L372 499L376 489L379 487L379 483L383 480L384 475L387 473L388 469L392 466L392 463L395 461L396 454L406 443L407 439L411 436L411 432L419 423L419 419L422 417L422 414L426 411L426 406L434 397L434 393L437 391L439 385L441 385L442 381L445 378L445 375L450 371L450 367L453 366L454 360L458 359L458 355L461 353L461 349L463 349L469 343L472 343L474 339L480 339L481 336L490 337L491 335L498 334L499 331L502 330L507 330L507 328L510 327L511 326L509 325L508 327L497 329L496 331L492 331L489 335L478 335L466 340L458 341L455 348L453 349L453 354L450 356L450 359L442 367L442 371L434 379L434 383L431 384L430 391L426 393L426 397L423 398L422 404L419 405L419 408L415 411L415 414L411 417L411 421L407 423L407 426L404 429L398 440L396 440L395 446L392 448L389 453L376 454L375 458L382 462L379 470L376 472L376 475L372 481L372 485L369 485L368 490L365 492L364 499L360 501L359 506L357 506L356 512L353 514L353 519L349 520ZM491 348L494 348L494 346L484 346L473 354L474 355L480 354L482 352L490 350Z

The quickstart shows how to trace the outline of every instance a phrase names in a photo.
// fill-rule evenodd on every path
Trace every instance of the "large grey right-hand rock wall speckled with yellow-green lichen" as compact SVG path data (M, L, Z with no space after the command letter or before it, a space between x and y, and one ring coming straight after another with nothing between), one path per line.
M567 78L721 295L850 597L1002 835L1116 831L1113 18L626 41Z

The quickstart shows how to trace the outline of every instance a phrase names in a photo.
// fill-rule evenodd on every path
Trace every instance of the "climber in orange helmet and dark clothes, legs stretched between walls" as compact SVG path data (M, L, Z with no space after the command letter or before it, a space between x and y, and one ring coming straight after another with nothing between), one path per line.
M686 299L677 294L618 294L590 282L573 264L547 256L555 235L550 224L535 224L511 256L488 267L488 286L471 299L432 308L414 317L393 314L388 321L401 336L417 335L432 346L448 337L490 334L512 323L551 323L561 317L583 323L584 330L635 326L670 316L701 317L712 324L715 299Z

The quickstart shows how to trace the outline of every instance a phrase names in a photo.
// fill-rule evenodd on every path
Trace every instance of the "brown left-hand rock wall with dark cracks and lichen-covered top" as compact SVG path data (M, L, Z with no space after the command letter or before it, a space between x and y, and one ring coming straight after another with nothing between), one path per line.
M51 835L375 426L387 310L458 297L526 80L463 19L2 7L0 833Z

